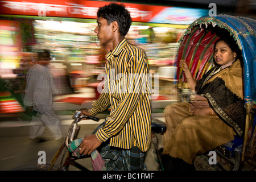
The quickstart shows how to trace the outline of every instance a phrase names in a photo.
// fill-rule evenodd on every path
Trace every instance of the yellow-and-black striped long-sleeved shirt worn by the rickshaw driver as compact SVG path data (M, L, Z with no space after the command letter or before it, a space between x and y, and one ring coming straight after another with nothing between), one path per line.
M151 101L148 63L144 51L123 39L106 54L106 79L89 113L96 115L111 107L110 115L96 136L110 146L146 152L151 142Z

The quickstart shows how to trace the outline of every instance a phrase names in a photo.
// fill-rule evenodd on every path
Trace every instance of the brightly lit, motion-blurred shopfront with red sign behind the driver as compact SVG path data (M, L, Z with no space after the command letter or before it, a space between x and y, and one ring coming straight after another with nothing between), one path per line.
M107 47L100 46L94 29L96 13L106 1L0 1L1 92L22 101L26 73L39 49L52 54L51 71L62 94L97 87L105 73ZM188 24L208 14L185 9L124 3L133 24L126 39L144 49L150 64L155 94L175 97L177 40ZM6 94L5 94L6 95ZM22 104L22 102L20 102ZM1 113L1 111L0 111Z

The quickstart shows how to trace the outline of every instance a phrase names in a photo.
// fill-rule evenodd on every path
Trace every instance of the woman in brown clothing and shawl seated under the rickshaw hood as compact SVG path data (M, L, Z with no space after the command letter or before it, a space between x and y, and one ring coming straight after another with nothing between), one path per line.
M214 45L216 66L197 82L187 63L180 61L192 96L190 102L164 109L164 170L194 169L197 154L230 142L234 135L242 136L245 111L240 55L231 36L218 39Z

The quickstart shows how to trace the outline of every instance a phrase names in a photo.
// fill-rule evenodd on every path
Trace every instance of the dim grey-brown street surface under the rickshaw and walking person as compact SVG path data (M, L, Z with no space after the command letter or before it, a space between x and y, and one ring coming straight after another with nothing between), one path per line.
M58 117L61 119L61 132L63 137L65 137L72 122L72 115ZM47 130L45 130L43 135L46 142L31 142L28 139L30 130L29 121L22 121L20 118L7 119L6 121L0 121L0 171L9 171L26 166L37 166L38 159L41 156L38 155L39 151L46 152L46 163L50 163L56 151L59 149L61 142L56 142ZM103 121L104 119L100 119L99 122L90 120L81 121L78 138L84 138L85 134L92 133ZM90 158L81 159L79 163L92 170ZM151 150L148 151L146 165L148 170L155 170L157 167ZM69 170L76 171L77 168L70 167Z

